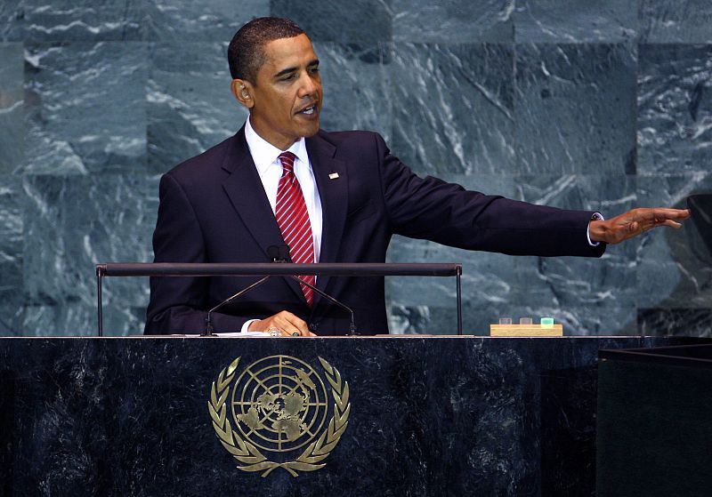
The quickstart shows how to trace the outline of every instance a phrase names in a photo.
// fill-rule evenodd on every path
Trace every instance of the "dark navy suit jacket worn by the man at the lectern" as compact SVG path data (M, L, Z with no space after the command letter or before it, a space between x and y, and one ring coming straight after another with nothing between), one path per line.
M600 256L587 243L593 212L564 211L420 178L373 132L323 132L306 139L321 197L320 262L384 262L393 234L514 255ZM338 178L329 175L337 173ZM250 156L244 128L179 164L160 182L153 236L156 262L268 262L284 244ZM145 333L199 333L206 309L257 278L163 277L150 282ZM380 277L318 277L351 307L362 334L388 333ZM273 277L214 314L216 332L286 309L317 334L344 334L348 316L315 295L309 309L294 280Z

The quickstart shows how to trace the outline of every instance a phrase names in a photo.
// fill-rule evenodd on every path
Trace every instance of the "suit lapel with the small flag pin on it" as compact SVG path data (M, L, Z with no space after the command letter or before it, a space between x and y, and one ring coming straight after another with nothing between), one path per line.
M322 229L319 261L336 262L349 204L346 164L335 158L336 147L324 140L320 134L308 138L306 148L321 198ZM318 277L317 287L323 291L328 285L328 280L329 277ZM317 294L314 301L315 308L320 300L320 295Z

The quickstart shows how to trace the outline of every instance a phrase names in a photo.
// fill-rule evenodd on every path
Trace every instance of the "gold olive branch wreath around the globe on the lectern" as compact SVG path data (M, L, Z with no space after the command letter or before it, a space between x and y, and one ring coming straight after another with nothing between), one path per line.
M294 461L274 462L268 461L263 453L251 444L248 440L239 437L237 431L232 429L231 422L227 416L227 399L230 395L230 384L235 377L235 370L238 368L239 359L232 361L231 365L224 368L213 381L210 389L210 400L207 402L207 410L213 418L213 428L215 434L220 439L220 443L244 466L238 466L243 471L264 471L262 477L269 475L274 469L286 469L293 477L299 476L297 471L315 471L326 466L325 460L329 453L334 450L341 436L344 434L346 426L349 424L349 414L351 413L351 403L349 403L349 384L341 380L341 373L328 364L321 357L319 361L327 375L327 380L331 385L331 393L334 396L334 416L328 422L328 429L325 429L320 437L313 441L304 452Z

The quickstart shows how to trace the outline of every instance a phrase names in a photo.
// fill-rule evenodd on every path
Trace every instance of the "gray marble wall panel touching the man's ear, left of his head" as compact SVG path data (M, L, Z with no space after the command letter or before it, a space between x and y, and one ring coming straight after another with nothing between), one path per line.
M231 136L247 118L230 91L228 43L150 44L149 169L175 164Z

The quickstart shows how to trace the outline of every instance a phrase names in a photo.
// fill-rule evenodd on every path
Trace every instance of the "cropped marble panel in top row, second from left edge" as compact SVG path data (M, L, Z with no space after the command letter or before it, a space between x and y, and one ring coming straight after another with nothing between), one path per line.
M142 40L146 22L143 2L135 0L25 0L28 40Z

